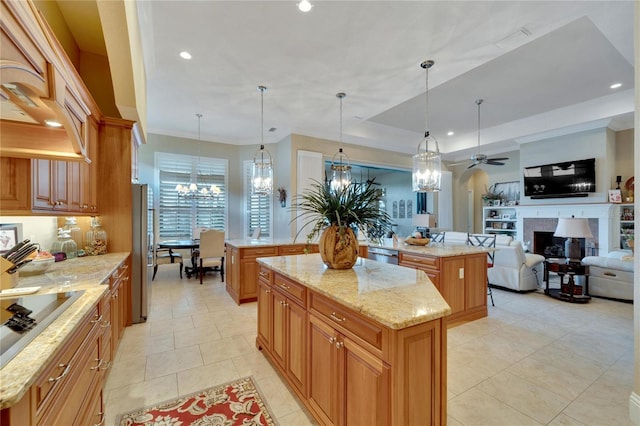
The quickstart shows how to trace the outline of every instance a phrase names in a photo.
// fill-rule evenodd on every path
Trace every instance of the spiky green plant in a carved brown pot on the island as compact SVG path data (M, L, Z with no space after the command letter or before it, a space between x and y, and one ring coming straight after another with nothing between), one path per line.
M349 269L355 264L358 239L354 229L367 235L391 231L391 218L380 209L382 192L373 186L374 180L340 189L315 181L295 197L291 208L298 216L294 220L302 221L300 229L312 225L307 242L320 235L320 256L329 268Z

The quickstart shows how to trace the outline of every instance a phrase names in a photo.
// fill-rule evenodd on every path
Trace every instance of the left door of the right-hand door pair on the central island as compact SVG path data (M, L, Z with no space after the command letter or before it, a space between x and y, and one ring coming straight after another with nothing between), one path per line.
M333 327L309 315L309 404L322 424L337 424L338 360Z

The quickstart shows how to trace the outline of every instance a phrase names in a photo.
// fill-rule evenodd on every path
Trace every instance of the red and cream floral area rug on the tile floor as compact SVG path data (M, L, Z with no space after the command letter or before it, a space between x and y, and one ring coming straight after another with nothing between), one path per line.
M118 417L120 426L277 424L251 376Z

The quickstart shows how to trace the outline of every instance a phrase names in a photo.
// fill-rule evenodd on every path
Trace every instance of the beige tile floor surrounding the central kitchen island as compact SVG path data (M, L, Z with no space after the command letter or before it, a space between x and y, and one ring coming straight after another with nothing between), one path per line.
M219 275L161 267L144 324L128 327L105 387L119 413L248 375L281 425L313 422L255 348L256 305ZM495 290L489 316L448 332L448 425L631 425L633 305L574 305Z

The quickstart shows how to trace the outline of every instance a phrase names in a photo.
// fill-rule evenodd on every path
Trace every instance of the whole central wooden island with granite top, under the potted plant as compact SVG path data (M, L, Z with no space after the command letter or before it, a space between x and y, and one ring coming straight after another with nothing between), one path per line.
M258 259L257 346L321 424L446 424L448 304L420 271Z

